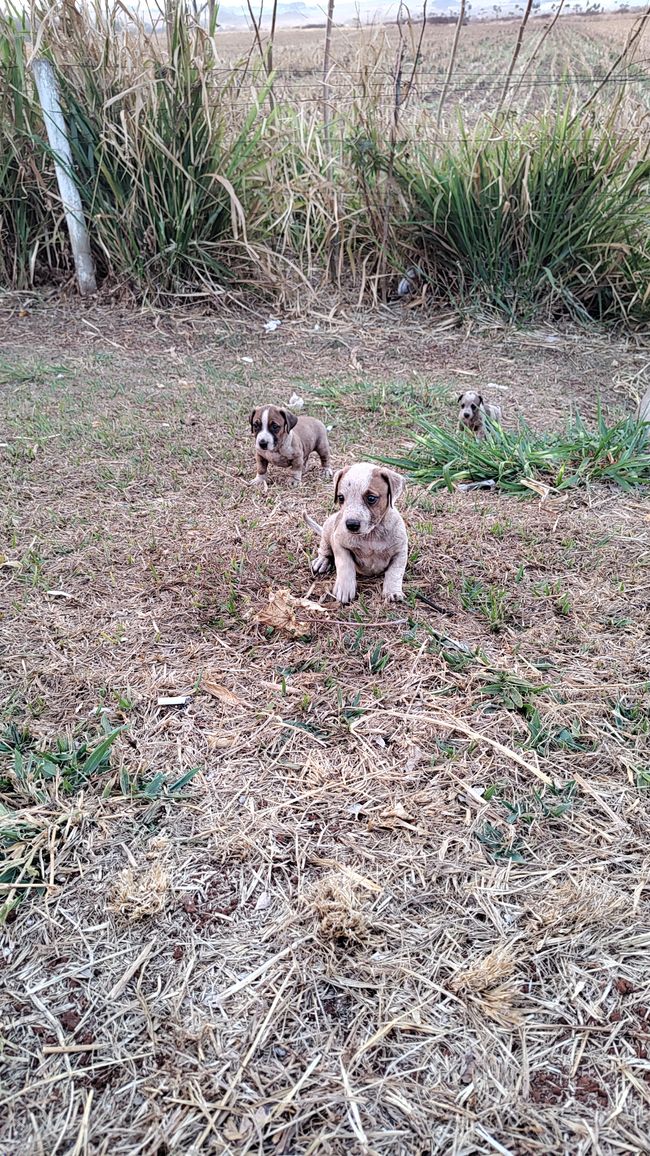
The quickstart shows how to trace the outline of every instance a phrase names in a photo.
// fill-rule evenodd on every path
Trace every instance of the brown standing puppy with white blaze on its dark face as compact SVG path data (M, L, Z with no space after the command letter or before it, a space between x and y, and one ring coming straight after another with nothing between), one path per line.
M267 490L268 462L291 470L291 483L300 486L310 453L316 451L323 466L323 476L330 479L330 445L323 422L316 417L296 417L289 409L258 406L251 414L251 433L256 439L257 474L252 486Z

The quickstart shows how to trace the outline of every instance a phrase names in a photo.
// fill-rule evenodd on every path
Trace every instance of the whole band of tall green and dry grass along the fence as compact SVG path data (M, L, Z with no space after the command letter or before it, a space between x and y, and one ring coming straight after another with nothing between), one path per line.
M495 127L486 105L441 135L440 104L433 118L418 103L415 29L413 64L400 29L405 90L394 77L387 83L398 64L385 49L360 52L338 83L334 114L324 117L320 101L291 98L279 82L275 90L266 50L256 62L224 66L214 10L201 27L183 0L169 6L164 37L98 3L57 18L5 3L6 286L72 275L28 67L35 28L57 71L110 289L163 304L236 294L296 306L333 281L385 299L415 264L431 297L464 313L650 318L650 161L620 101L597 124L593 109L579 114L578 94L560 88L541 111Z

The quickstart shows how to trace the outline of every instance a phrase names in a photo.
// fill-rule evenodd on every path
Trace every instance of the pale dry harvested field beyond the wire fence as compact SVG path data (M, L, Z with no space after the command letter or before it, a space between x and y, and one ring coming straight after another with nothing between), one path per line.
M525 119L532 112L553 106L561 95L567 101L576 98L578 102L592 96L623 51L638 16L638 12L562 16L553 27L551 18L532 20L524 32L508 97L511 117ZM494 113L518 27L518 21L509 20L470 23L461 29L457 62L444 102L445 139L453 139L458 132L458 112L463 113L467 126ZM280 29L275 35L276 95L291 108L302 106L306 117L318 113L323 102L324 37L324 29ZM408 91L420 25L414 21L404 29L402 88L406 87L407 99L401 119L418 127L424 138L434 133L453 37L453 24L427 27L413 87ZM349 113L350 102L360 108L368 102L383 102L389 119L394 102L399 39L394 24L334 31L330 79L334 120L339 111ZM238 69L242 74L244 61L254 62L258 58L254 37L249 32L219 32L217 49L223 67ZM644 135L650 111L649 61L650 29L647 27L631 59L616 71L596 101L599 114L606 114L613 101L622 96L622 120L638 126Z

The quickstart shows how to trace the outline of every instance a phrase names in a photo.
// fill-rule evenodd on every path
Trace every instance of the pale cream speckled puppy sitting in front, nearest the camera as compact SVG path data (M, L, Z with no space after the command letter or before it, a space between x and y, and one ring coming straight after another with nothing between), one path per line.
M356 575L384 576L385 602L404 598L401 583L408 556L408 539L394 503L404 491L404 477L365 461L339 469L334 477L338 513L319 526L305 514L308 526L320 534L315 575L337 569L332 591L344 605L356 596Z

